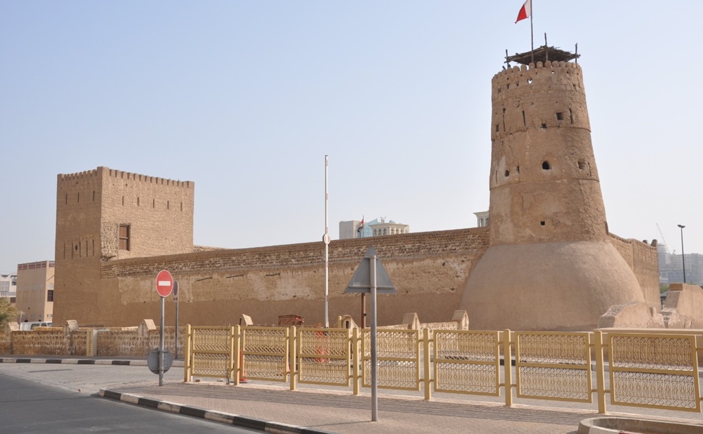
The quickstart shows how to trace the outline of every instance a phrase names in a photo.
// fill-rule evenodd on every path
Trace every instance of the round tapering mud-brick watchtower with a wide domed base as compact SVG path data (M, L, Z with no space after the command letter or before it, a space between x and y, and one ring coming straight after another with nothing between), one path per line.
M492 100L491 242L461 302L471 328L588 330L643 301L610 242L581 67L508 68Z

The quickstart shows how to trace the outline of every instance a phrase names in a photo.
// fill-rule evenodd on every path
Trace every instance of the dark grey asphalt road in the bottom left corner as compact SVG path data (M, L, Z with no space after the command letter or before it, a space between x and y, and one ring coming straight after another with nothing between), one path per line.
M54 368L56 369L56 368ZM0 373L1 433L258 433Z

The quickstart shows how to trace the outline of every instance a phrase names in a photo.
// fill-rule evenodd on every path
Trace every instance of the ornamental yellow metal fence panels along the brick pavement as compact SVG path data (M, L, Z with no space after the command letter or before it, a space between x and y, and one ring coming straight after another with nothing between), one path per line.
M291 390L351 384L358 395L360 385L370 386L370 337L368 329L188 326L185 379L288 381ZM378 387L424 389L427 400L432 392L503 395L508 406L514 398L592 403L595 395L599 413L610 395L611 405L701 412L699 339L662 331L379 329Z

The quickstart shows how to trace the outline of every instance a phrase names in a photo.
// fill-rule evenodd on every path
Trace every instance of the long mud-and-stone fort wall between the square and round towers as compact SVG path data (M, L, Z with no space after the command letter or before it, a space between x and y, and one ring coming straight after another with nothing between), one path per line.
M349 314L361 322L361 296L342 292L372 244L398 289L397 295L379 297L379 324L397 324L406 312L434 322L446 320L457 309L472 265L488 245L488 230L331 242L330 321ZM250 315L254 324L277 324L278 316L291 314L304 316L306 324L324 323L324 247L318 242L103 263L102 278L94 289L98 301L93 325L129 325L158 315L154 279L162 269L179 280L183 324L237 324L242 314ZM172 298L167 298L169 326L174 325L174 309ZM81 313L76 314L84 324Z

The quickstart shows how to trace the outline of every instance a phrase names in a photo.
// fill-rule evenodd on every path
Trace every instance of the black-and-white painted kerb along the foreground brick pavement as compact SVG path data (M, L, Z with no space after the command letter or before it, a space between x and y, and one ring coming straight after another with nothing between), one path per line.
M330 431L317 430L315 428L307 428L304 426L288 425L287 423L264 421L253 417L242 416L240 414L230 414L224 412L214 412L212 410L202 409L200 407L189 407L180 405L176 402L159 401L150 397L142 397L131 393L113 392L112 390L102 388L99 395L111 400L127 402L129 404L141 405L143 407L160 409L165 412L183 414L184 416L193 416L208 421L219 423L227 423L228 425L241 426L243 428L252 428L261 430L265 433L291 433L291 434L334 434Z

